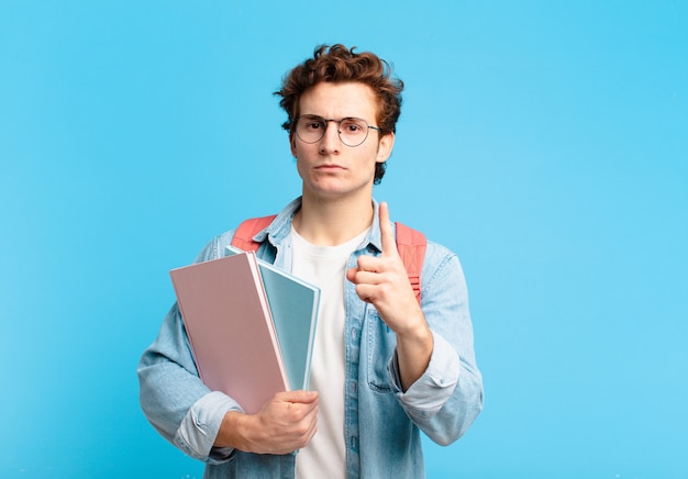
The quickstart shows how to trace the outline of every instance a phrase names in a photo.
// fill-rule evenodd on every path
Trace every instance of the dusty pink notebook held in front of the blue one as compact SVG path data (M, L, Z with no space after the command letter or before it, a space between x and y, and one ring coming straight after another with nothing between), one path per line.
M254 253L173 269L177 302L201 380L248 414L289 380Z

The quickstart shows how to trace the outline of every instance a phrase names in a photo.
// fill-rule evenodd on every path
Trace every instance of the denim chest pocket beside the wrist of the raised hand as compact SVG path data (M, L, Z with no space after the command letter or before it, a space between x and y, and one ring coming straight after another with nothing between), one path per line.
M397 335L373 307L366 314L365 358L368 387L377 392L392 392L387 365L395 354Z

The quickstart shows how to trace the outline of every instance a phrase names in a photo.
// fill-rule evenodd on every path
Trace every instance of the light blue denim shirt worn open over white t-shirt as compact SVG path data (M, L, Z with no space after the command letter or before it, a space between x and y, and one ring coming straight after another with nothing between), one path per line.
M289 203L255 239L258 257L291 268L291 221L300 208ZM378 204L369 237L352 254L381 252ZM214 238L197 261L225 255L233 232ZM466 282L456 255L428 242L421 271L421 307L433 334L433 353L423 374L402 391L396 335L355 286L345 288L346 475L348 478L425 476L420 431L441 445L458 439L482 409L482 380L476 366ZM241 405L200 380L177 304L138 365L141 406L153 426L187 455L207 463L207 478L292 478L293 454L257 455L213 447L222 419Z

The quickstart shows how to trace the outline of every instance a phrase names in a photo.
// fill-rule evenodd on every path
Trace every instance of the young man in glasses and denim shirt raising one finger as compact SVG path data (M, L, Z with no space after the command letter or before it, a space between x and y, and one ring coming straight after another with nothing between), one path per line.
M428 243L419 305L389 210L373 199L402 88L376 55L334 45L291 70L278 92L303 187L255 239L259 257L322 289L312 391L278 393L245 414L200 381L177 305L144 353L143 411L208 463L206 477L423 477L420 431L446 445L480 412L456 255ZM232 236L198 260L224 256Z

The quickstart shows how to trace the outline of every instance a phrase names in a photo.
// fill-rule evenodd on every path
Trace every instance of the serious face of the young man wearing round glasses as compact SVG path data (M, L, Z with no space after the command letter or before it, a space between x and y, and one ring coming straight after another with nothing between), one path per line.
M299 101L301 115L342 120L360 118L377 126L377 102L373 89L359 82L320 82L308 89ZM293 132L291 153L303 180L303 197L320 199L365 198L373 194L376 163L384 163L391 154L395 135L368 131L368 137L358 146L342 143L337 124L329 122L324 136L315 143L304 143Z

